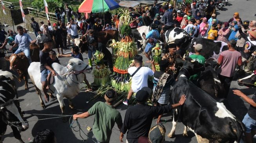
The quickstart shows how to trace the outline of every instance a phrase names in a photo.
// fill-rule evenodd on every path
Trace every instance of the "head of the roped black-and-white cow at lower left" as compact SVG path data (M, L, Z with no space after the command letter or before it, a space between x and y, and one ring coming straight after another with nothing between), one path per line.
M20 102L17 99L9 100L5 104L0 105L0 114L2 114L2 120L10 126L16 126L22 131L29 128L29 124L23 119Z

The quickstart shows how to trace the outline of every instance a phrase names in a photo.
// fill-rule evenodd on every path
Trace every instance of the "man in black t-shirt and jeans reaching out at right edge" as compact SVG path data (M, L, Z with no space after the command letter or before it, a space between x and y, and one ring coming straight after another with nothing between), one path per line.
M243 118L243 123L245 124L245 143L252 143L252 137L256 133L256 92L252 96L252 99L243 94L240 90L233 90L235 95L243 98L246 102L250 104L248 113Z

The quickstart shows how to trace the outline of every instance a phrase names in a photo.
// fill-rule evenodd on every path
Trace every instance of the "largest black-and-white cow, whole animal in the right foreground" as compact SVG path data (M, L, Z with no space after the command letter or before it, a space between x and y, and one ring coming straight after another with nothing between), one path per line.
M172 129L168 134L172 138L178 117L185 125L183 136L187 136L187 128L194 132L198 143L225 143L239 141L245 127L223 105L198 88L190 80L190 75L203 71L202 64L190 58L185 62L172 89L172 102L178 103L183 94L185 103L173 114Z

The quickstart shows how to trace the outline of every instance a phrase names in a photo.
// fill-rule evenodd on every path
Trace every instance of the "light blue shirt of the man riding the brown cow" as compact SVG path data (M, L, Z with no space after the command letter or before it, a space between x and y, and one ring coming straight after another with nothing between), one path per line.
M17 34L15 36L15 44L18 44L19 48L27 49L29 48L30 42L33 41L29 34L23 33L22 35Z

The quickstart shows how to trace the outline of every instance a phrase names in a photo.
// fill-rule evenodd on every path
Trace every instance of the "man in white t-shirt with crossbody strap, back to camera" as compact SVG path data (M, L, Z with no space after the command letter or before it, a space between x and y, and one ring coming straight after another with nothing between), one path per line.
M154 60L151 61L152 70L148 67L142 66L142 56L135 55L134 63L128 68L128 73L132 76L132 85L131 89L128 93L127 99L123 102L123 104L128 105L129 100L131 99L133 93L136 93L143 87L147 87L147 79L148 76L153 76L156 71L154 66ZM134 73L138 68L140 68L136 73Z

